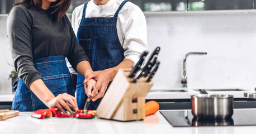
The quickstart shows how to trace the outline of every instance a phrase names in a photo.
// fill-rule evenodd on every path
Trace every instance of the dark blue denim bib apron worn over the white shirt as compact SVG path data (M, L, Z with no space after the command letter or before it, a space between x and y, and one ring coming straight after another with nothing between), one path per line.
M114 17L85 18L87 3L84 4L83 17L77 33L79 44L86 51L93 71L113 68L124 60L124 49L117 35L117 15L128 0L121 3ZM77 103L83 109L87 100L84 91L84 77L77 77ZM110 85L110 84L108 84ZM88 109L95 110L101 99L92 102Z

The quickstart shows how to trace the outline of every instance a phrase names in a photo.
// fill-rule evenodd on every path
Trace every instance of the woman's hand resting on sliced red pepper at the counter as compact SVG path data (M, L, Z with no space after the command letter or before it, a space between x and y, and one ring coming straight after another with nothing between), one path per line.
M49 108L50 107L59 108L60 111L65 114L67 114L65 109L67 109L67 111L70 114L74 114L73 111L78 110L77 99L75 99L75 97L73 97L72 95L69 95L67 93L59 94L55 98L50 99L48 101L48 103L46 103L46 104Z

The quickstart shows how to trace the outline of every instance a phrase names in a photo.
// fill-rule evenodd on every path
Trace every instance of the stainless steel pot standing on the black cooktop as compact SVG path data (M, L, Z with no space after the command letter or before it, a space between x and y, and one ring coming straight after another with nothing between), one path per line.
M192 114L197 118L231 118L233 115L233 95L205 94L204 89L191 96Z

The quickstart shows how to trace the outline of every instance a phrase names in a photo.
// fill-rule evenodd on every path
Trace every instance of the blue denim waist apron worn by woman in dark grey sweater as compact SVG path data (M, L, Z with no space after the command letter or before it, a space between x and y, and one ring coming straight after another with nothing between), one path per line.
M72 79L64 56L50 56L35 59L34 65L36 70L41 74L46 87L48 87L55 96L63 93L74 96ZM22 79L18 79L18 85L16 85L16 87L12 110L36 111L38 109L48 108L29 88L27 88Z

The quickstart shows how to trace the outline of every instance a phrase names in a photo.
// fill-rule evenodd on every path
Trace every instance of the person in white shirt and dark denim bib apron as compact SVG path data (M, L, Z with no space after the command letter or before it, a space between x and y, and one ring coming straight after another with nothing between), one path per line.
M93 90L88 87L84 91L84 77L78 74L78 107L83 108L87 94L93 101L89 109L96 109L118 69L131 68L148 49L146 19L141 9L127 0L91 0L74 9L72 26L94 71L87 80L97 79ZM75 74L72 66L68 67Z

